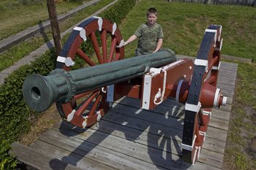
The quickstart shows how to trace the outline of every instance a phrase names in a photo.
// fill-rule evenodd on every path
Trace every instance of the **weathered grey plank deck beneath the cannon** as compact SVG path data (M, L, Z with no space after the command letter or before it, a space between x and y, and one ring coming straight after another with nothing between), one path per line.
M184 105L171 99L148 111L140 109L140 100L123 98L86 130L64 121L54 125L29 148L42 158L22 149L15 154L31 157L27 159L37 162L32 165L37 169L222 169L236 71L236 64L222 62L217 86L228 97L227 105L213 110L194 166L181 157ZM15 146L19 144L14 144L17 150Z

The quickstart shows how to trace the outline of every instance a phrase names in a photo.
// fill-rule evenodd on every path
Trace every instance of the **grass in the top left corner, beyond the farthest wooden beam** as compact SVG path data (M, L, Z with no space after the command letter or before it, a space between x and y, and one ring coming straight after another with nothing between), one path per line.
M90 0L83 0L84 2ZM58 14L78 7L80 3L59 1L56 3ZM22 18L22 19L20 19ZM48 20L45 0L1 0L0 2L0 40L17 34L30 26Z

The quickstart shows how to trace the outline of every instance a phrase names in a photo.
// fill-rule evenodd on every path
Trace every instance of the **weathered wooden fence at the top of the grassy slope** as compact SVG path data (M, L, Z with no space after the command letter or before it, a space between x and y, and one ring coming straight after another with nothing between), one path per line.
M183 1L197 2L203 4L235 4L256 7L256 0L168 0L168 1Z

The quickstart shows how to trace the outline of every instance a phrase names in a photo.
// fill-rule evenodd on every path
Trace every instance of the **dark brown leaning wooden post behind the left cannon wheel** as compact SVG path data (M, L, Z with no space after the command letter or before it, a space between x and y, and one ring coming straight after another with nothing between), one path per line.
M59 32L59 23L57 18L55 1L47 0L47 8L49 13L50 26L52 29L56 55L59 55L61 53L61 34Z

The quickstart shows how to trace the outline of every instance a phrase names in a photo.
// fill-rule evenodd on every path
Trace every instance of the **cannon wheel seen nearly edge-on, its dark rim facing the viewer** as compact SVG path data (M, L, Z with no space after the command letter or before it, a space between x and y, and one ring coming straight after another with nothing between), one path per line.
M219 72L222 26L210 26L206 29L200 50L197 54L192 80L185 105L184 129L182 136L182 156L186 163L194 164L206 138L211 109L202 108L204 85L217 86ZM218 107L218 104L216 105Z

